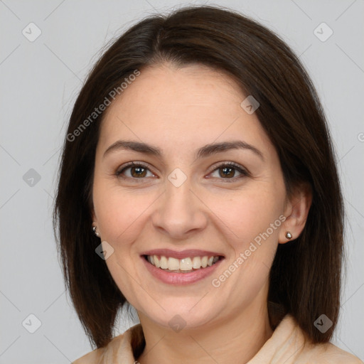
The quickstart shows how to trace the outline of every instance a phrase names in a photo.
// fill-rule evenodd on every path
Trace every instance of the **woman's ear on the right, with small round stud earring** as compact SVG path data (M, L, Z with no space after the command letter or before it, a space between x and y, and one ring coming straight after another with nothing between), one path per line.
M279 244L285 244L299 237L302 230L304 230L311 203L312 192L309 183L301 183L299 186L296 186L294 192L287 198L284 208L286 220L282 223L282 228L279 231ZM287 238L287 232L291 233L291 239Z

